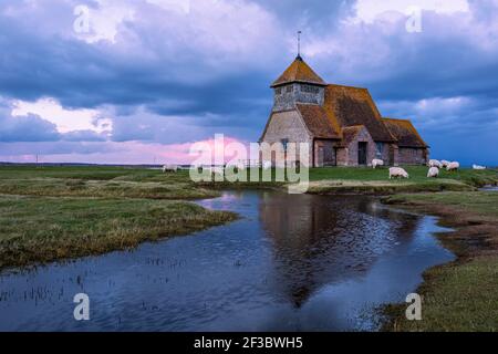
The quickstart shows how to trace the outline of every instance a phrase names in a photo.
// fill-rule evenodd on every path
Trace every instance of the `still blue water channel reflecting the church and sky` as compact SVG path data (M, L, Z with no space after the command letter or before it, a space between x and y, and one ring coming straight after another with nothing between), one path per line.
M241 219L186 237L0 273L0 331L375 331L454 256L433 217L363 196L225 192ZM87 322L73 296L90 296Z

